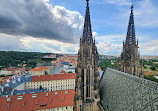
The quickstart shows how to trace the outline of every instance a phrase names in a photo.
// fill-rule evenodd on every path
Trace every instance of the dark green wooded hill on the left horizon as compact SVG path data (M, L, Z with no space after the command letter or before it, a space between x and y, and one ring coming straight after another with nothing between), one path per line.
M17 67L19 64L29 64L29 62L30 65L34 65L36 62L31 60L40 60L44 55L51 54L52 53L0 51L0 66L1 68L10 66Z

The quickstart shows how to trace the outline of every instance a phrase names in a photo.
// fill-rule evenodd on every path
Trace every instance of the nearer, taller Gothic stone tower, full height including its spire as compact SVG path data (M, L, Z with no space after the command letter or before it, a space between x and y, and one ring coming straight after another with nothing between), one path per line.
M99 55L92 37L89 0L86 1L84 29L78 51L74 111L99 111Z

